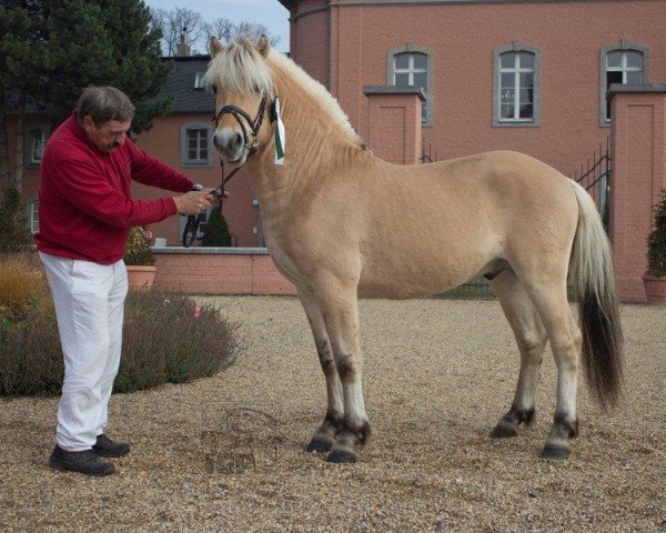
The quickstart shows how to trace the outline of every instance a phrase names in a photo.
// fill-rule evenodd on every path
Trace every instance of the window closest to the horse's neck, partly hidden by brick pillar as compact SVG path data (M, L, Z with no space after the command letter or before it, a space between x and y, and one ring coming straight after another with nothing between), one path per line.
M420 87L425 93L421 119L424 124L432 123L432 54L425 48L407 43L406 47L389 52L390 86Z

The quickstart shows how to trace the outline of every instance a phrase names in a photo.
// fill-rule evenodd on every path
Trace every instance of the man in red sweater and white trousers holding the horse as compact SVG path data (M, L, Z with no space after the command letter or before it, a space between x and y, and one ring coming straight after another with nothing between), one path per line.
M122 343L128 292L122 261L130 227L196 214L212 195L128 139L134 107L112 87L85 89L51 135L40 168L37 248L53 293L64 356L56 447L49 464L88 475L113 473L104 457L127 443L104 434ZM183 193L132 200L130 181Z

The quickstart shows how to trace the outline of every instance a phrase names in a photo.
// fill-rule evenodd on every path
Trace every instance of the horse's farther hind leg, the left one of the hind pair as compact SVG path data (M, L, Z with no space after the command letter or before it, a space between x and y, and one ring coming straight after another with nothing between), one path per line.
M517 435L518 426L528 425L534 419L535 394L547 335L532 300L513 270L501 272L491 281L491 286L500 300L521 352L521 372L514 401L491 433L491 436L500 439Z

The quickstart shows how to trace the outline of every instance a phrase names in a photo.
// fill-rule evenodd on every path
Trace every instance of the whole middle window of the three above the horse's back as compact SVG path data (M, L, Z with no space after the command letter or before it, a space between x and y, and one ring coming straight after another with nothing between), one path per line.
M493 125L538 125L538 59L519 42L495 50Z

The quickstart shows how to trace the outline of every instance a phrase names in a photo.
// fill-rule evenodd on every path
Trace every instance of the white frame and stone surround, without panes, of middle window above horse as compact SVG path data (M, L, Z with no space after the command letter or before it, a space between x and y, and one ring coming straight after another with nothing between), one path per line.
M502 57L514 56L513 67L502 67ZM532 56L532 67L521 67L521 54ZM502 117L502 74L514 74L514 112L512 118ZM532 118L521 118L521 74L532 73ZM519 41L500 47L493 52L493 127L538 127L541 125L541 51ZM523 102L525 103L525 102ZM516 118L517 115L517 118Z

